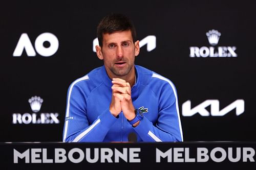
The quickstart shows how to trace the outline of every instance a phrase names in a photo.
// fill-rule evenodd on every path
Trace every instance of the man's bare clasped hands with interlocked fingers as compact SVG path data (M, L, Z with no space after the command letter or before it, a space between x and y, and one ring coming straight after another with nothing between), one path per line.
M110 104L110 112L115 117L123 111L126 119L132 120L135 115L135 108L132 102L131 86L123 79L112 79L112 100Z

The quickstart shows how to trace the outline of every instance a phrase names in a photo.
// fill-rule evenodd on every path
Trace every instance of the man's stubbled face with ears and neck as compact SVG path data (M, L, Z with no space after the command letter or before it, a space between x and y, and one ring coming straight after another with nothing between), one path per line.
M139 54L139 41L133 43L130 30L103 34L102 48L96 46L96 50L110 78L135 74L134 60Z

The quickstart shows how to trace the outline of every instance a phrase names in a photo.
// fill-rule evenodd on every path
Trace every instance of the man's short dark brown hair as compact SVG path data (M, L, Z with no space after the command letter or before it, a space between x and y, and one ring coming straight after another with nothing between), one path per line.
M97 27L97 37L99 40L99 46L102 47L103 34L114 33L117 31L131 30L133 42L136 41L136 30L133 22L123 14L111 13L101 19Z

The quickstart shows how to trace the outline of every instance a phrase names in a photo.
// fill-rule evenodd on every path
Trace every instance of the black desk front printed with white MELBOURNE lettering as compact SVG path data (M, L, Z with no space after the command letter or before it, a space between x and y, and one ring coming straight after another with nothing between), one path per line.
M0 169L256 169L256 142L8 142L0 148Z

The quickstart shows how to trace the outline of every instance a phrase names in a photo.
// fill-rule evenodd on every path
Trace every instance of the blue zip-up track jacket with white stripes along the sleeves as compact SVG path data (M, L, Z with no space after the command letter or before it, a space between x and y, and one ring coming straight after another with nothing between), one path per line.
M174 84L144 67L135 65L135 70L132 101L145 111L139 125L132 127L122 112L118 118L110 113L112 83L101 66L70 85L63 142L122 142L131 133L137 141L183 141Z

